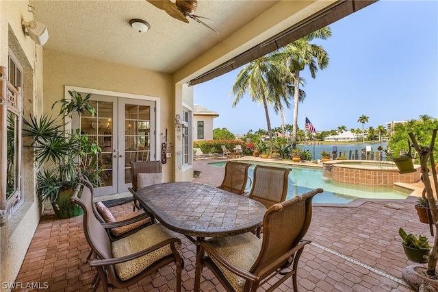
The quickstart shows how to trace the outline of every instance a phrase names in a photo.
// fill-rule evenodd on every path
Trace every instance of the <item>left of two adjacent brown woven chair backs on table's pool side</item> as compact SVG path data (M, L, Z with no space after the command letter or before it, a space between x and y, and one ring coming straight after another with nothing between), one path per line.
M245 193L246 183L251 178L248 178L248 169L251 165L248 163L229 161L225 165L225 175L222 184L219 188L224 191L229 191L237 195L243 195Z

